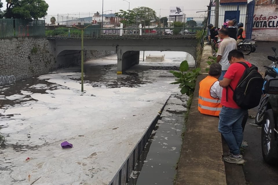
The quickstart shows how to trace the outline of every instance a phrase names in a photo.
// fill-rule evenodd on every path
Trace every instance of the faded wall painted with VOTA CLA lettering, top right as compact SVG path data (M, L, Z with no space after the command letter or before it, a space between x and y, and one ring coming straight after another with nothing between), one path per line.
M253 16L252 38L278 41L278 12L276 5L256 5Z

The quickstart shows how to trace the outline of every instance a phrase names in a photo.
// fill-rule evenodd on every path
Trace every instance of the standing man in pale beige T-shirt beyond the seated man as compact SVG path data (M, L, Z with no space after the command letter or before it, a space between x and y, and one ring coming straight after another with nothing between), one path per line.
M228 36L228 30L227 28L223 28L219 31L220 39L223 39L221 42L219 49L217 51L217 60L216 62L221 64L222 66L222 74L219 77L219 80L222 80L224 77L224 74L228 70L228 67L230 66L230 63L228 61L228 54L233 49L237 49L237 42L235 39L230 38Z

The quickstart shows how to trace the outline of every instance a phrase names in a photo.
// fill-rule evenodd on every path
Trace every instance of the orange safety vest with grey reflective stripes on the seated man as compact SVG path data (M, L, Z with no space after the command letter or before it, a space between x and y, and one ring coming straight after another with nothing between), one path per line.
M211 86L217 81L215 77L207 76L200 82L198 110L202 114L219 116L222 109L219 98L211 97Z

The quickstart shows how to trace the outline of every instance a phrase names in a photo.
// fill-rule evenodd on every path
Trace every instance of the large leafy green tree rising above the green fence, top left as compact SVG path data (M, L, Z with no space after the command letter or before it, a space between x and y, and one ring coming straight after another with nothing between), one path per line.
M6 0L6 2L5 18L37 20L47 15L49 7L44 0Z

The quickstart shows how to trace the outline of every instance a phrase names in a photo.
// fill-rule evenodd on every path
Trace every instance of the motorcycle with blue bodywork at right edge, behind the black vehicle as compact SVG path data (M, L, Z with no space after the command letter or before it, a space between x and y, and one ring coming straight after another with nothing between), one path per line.
M270 94L266 92L266 89L265 89L266 83L269 81L269 79L278 78L278 68L277 68L278 57L276 54L276 48L272 46L271 49L274 51L275 56L270 56L270 55L267 56L268 60L272 61L271 67L264 66L266 68L265 77L264 77L264 86L262 89L264 96L261 99L261 102L259 104L259 109L258 109L258 112L255 117L255 123L257 125L262 124L264 114L267 110L267 102L268 102L268 97L270 96Z

